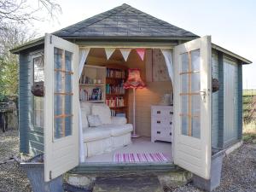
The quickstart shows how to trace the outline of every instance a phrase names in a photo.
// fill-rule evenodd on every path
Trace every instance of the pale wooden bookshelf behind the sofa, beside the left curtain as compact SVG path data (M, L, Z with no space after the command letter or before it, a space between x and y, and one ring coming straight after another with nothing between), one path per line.
M79 79L79 100L105 102L106 67L85 65Z

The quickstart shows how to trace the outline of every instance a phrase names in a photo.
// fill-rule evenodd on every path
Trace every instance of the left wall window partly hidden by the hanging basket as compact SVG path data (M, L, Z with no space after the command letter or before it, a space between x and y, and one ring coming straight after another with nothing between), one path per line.
M32 55L32 84L44 81L44 55ZM32 123L44 127L44 97L32 96Z

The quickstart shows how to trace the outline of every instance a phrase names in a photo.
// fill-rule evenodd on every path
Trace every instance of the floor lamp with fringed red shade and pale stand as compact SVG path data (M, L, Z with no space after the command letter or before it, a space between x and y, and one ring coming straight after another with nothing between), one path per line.
M143 79L141 79L140 70L138 68L130 68L128 72L128 79L124 84L124 88L133 90L133 132L131 137L137 138L139 136L136 134L135 126L135 90L137 88L142 89L146 87L146 84L144 84Z

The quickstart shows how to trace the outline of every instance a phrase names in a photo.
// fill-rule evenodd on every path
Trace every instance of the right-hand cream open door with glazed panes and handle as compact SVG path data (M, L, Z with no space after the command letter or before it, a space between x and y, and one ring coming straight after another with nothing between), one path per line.
M174 48L174 163L209 179L211 168L211 37Z

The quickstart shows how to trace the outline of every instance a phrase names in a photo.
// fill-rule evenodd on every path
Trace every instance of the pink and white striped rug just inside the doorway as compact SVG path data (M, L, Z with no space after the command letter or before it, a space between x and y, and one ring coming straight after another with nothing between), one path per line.
M137 163L137 162L166 162L170 158L163 153L149 153L149 154L113 154L113 161L117 163Z

